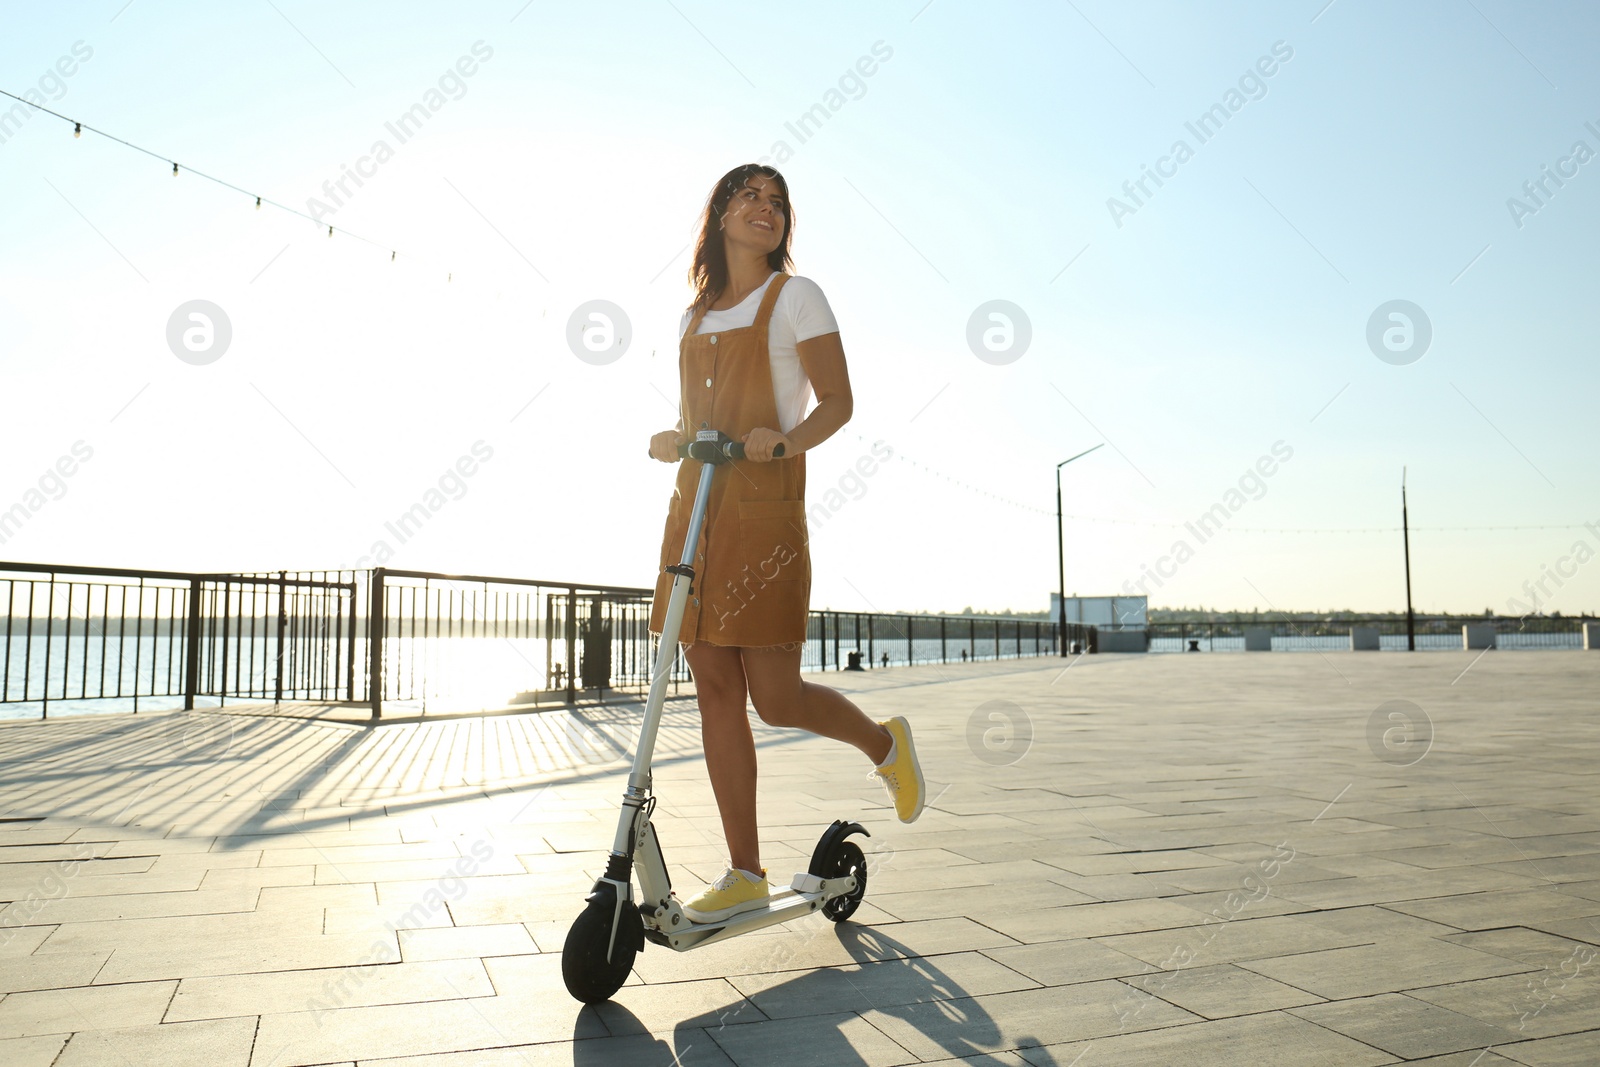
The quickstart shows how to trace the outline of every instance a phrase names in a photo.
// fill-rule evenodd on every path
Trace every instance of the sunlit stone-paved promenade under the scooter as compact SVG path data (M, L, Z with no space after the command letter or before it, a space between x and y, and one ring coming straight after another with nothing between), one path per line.
M933 806L758 726L787 881L866 904L560 979L637 707L0 723L0 1064L1600 1062L1600 656L1197 654L829 675L912 718ZM674 880L720 873L693 705Z

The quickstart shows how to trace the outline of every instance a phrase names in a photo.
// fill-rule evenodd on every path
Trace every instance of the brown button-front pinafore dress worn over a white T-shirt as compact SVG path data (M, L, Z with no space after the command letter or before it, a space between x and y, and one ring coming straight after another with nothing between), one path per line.
M722 430L739 440L757 427L778 430L778 403L766 350L779 274L766 288L755 322L738 330L694 333L694 315L678 344L683 434ZM683 557L699 464L678 466L661 539L661 566ZM771 462L736 461L712 480L706 522L694 549L694 585L678 641L768 648L805 640L811 598L811 555L805 525L805 456ZM656 577L650 632L661 633L672 574Z

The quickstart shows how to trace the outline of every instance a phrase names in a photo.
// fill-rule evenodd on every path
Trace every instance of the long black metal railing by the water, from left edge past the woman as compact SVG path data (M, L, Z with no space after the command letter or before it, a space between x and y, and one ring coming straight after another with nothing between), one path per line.
M197 701L480 710L650 686L650 589L427 571L190 574L0 563L0 717ZM1069 646L1094 651L1094 627ZM1050 656L1058 627L813 611L803 670ZM682 654L674 686L688 681ZM110 704L107 704L110 702Z

